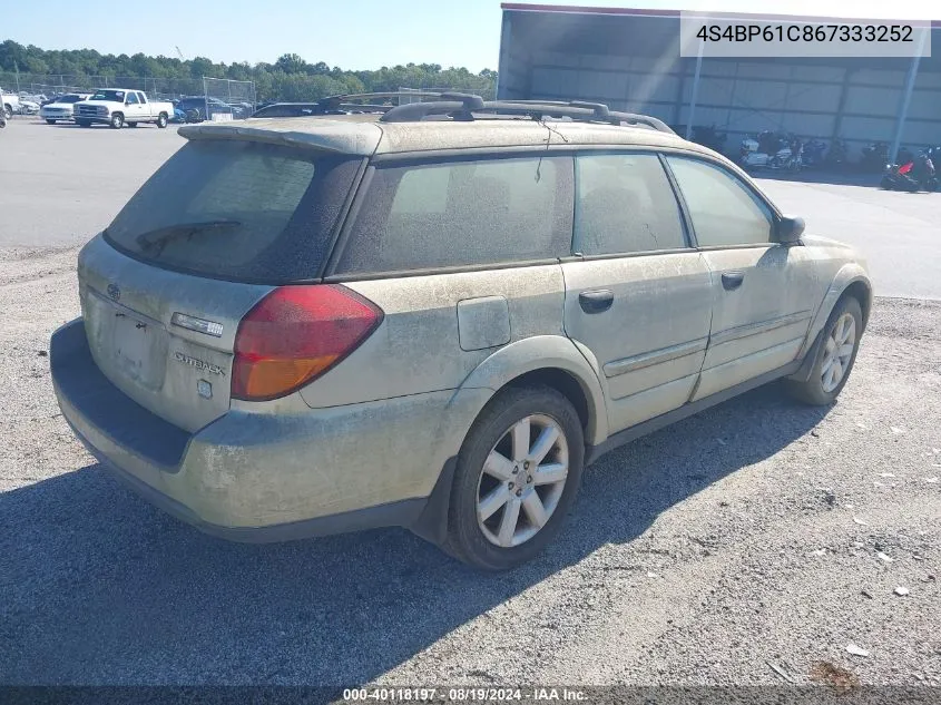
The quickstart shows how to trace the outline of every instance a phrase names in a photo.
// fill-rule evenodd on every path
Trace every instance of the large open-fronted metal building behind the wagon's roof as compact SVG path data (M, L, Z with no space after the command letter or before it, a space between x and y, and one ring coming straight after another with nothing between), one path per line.
M501 99L606 102L678 131L715 125L728 133L726 151L765 129L827 143L839 137L851 159L874 141L941 144L941 22L932 26L932 56L919 61L704 58L697 76L697 59L680 57L679 11L502 9Z

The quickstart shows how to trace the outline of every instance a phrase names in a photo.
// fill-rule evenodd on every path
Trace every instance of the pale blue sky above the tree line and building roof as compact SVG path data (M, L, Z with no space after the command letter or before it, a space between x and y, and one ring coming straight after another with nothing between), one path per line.
M931 19L927 0L540 0L541 4ZM497 69L500 0L11 1L0 40L43 49L274 62L297 53L343 69L396 63ZM941 16L941 10L934 11ZM941 19L935 17L934 19Z

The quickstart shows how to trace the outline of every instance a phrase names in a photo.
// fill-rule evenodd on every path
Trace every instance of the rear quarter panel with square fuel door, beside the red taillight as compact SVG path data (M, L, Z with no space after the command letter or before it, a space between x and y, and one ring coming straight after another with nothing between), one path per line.
M453 390L504 344L533 335L565 335L565 285L558 264L350 282L345 286L380 306L385 317L349 358L302 390L304 401L313 408ZM496 305L500 298L506 301L504 307ZM509 340L463 350L462 333L468 347L469 337L480 337L476 330L479 321L464 314L462 323L459 306L467 309L478 301L488 315L506 311L506 321L492 323L508 329Z

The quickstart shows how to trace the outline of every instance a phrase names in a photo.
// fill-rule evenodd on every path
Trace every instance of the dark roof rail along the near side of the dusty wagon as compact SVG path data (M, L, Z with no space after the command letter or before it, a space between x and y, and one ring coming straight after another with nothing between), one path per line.
M675 135L666 123L649 115L611 110L602 102L584 100L488 100L469 94L435 94L440 100L412 102L390 109L380 118L382 123L418 123L424 118L450 117L473 120L474 114L545 118L568 118L578 123L631 125Z

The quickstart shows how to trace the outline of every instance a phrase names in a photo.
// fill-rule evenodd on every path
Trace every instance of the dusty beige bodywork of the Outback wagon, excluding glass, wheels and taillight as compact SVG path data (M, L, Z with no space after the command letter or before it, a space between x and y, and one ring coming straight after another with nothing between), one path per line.
M298 118L199 125L180 134L366 157L629 146L700 155L751 183L727 160L672 135L516 123ZM757 273L749 295L731 300L722 291L721 274L731 268ZM737 384L794 373L847 287L860 287L864 312L871 297L859 255L811 235L795 245L575 255L350 278L343 285L383 312L379 327L324 376L253 402L229 396L235 335L272 286L155 267L100 236L81 252L79 281L84 320L57 333L52 345L66 419L135 489L158 503L166 500L169 510L207 530L231 529L235 538L278 527L294 536L292 527L351 512L378 513L295 533L412 526L443 497L445 512L434 519L440 528L449 468L468 430L494 394L523 375L551 371L570 382L588 450L607 449L631 429ZM591 288L611 290L616 319L584 314L579 293ZM208 335L175 325L176 313L220 331ZM135 342L149 334L140 331L153 331L149 343ZM139 428L102 425L94 394L75 391L80 385L67 378L82 373L70 368L82 345L94 360L85 372L101 376L102 398L124 395L143 408ZM146 444L135 444L135 434L150 428L177 439L178 462L160 464Z

